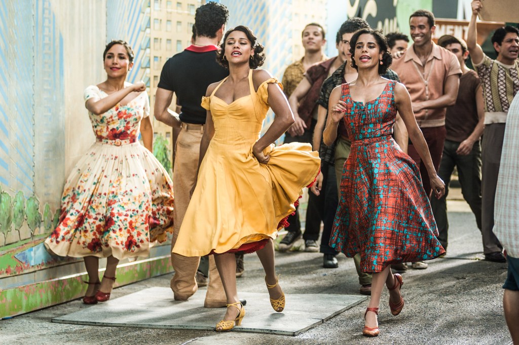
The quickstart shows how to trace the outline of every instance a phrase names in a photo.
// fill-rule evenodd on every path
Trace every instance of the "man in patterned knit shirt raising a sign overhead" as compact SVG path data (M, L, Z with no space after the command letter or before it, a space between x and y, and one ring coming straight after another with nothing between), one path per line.
M492 247L484 247L485 260L502 263L506 259L501 253L501 244L493 232L494 201L507 113L514 95L519 90L519 62L517 61L519 30L513 26L497 29L492 36L497 59L490 59L476 42L476 19L477 13L482 8L481 1L473 1L471 5L472 18L469 23L467 47L481 79L485 101L485 129L481 144L483 163L481 232L483 237L491 239L488 242L496 243Z

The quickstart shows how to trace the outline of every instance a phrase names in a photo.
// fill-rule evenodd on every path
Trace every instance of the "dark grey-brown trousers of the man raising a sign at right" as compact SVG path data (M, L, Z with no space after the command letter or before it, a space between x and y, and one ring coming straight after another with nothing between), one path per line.
M494 202L496 200L497 176L501 163L503 148L504 123L490 123L485 125L483 141L481 143L482 158L482 212L481 232L483 235L483 253L500 252L502 246L494 234ZM485 243L488 244L485 245Z

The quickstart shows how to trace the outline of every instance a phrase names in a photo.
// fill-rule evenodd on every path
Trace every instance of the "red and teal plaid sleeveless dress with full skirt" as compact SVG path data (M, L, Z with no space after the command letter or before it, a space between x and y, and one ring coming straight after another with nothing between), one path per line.
M392 139L397 114L389 80L377 99L356 102L342 85L344 122L352 139L344 164L330 245L361 254L363 272L429 260L445 253L415 162Z

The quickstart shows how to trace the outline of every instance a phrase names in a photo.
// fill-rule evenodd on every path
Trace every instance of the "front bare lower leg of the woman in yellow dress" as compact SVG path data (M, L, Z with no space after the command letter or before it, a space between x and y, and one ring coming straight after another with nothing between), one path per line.
M236 288L236 256L234 253L216 254L214 255L214 261L222 279L227 304L239 302ZM229 307L223 320L235 320L239 313L240 311L237 308Z

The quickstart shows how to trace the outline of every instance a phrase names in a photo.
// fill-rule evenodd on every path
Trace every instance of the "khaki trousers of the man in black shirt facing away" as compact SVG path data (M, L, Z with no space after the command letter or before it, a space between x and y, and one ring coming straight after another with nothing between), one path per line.
M173 188L175 192L175 208L173 211L174 227L171 250L179 237L180 226L189 204L189 193L195 185L195 175L198 169L200 142L203 126L182 123L182 128L176 140L175 162L173 166ZM189 229L184 229L184 231ZM200 263L200 257L187 257L171 253L171 264L175 274L171 279L171 289L175 300L187 300L198 289L195 274ZM227 298L216 269L214 257L209 258L209 285L207 288L205 307L225 307Z

